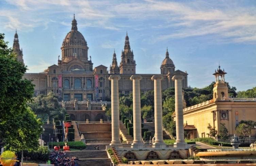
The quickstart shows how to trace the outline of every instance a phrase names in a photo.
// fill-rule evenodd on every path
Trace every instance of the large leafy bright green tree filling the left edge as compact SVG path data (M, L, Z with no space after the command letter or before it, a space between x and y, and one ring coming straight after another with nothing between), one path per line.
M22 79L27 67L16 60L1 33L0 69L0 143L15 151L37 148L41 123L27 106L34 85Z

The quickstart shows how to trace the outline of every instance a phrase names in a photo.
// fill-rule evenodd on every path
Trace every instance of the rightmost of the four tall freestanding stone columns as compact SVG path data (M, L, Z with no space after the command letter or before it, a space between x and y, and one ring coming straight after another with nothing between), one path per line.
M175 114L176 114L176 145L178 148L185 148L184 140L184 122L183 122L183 101L182 101L182 75L174 75L175 81Z

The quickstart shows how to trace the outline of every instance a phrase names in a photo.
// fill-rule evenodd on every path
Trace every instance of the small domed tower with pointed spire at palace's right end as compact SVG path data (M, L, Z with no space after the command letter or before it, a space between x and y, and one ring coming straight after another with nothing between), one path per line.
M165 59L162 62L160 69L161 69L161 74L168 74L168 72L172 73L175 71L175 66L172 60L169 58L168 48L166 50Z

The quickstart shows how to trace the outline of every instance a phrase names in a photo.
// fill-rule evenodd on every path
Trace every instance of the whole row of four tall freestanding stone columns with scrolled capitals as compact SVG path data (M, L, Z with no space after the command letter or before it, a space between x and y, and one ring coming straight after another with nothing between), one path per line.
M110 145L121 145L119 138L119 75L110 75L111 81L111 117L112 117L112 141ZM140 75L132 75L130 80L133 81L133 136L132 145L143 145L141 141L141 104L140 104ZM153 75L151 80L154 81L154 113L155 113L155 141L154 145L165 146L163 140L163 111L162 111L162 94L161 80L162 75ZM184 129L183 129L183 101L182 101L182 79L183 76L173 76L175 80L175 113L176 113L176 144L179 148L185 148Z

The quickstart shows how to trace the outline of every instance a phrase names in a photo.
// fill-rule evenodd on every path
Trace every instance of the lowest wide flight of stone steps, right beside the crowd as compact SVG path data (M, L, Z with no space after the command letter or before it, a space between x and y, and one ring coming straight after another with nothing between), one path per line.
M66 157L78 157L79 166L110 166L106 150L66 151Z

